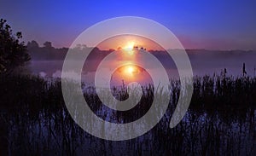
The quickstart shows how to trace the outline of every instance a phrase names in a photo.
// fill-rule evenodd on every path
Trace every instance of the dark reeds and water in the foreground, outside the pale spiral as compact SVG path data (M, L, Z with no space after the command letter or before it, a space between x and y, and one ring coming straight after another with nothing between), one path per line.
M31 76L0 78L0 155L256 155L256 78L195 78L189 111L170 129L179 83L172 81L166 115L135 139L111 142L90 136L67 113L61 82ZM112 112L118 121L143 116L154 96L144 87L139 111ZM114 90L125 99L125 90ZM85 86L84 97L101 118L101 101ZM98 111L98 112L97 112ZM107 111L108 112L108 111ZM104 118L108 119L108 118Z

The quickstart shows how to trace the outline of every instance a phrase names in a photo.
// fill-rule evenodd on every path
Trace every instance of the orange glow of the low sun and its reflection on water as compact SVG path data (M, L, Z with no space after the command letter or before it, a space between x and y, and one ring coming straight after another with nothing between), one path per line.
M97 48L117 50L116 61L124 61L124 66L119 67L113 72L112 81L122 82L123 80L128 84L131 82L152 82L148 72L143 67L134 64L135 61L141 59L141 49L146 49L147 51L150 49L164 50L158 43L154 43L154 41L148 38L127 34L108 38L102 43L99 43ZM141 61L145 60L142 59ZM109 62L109 66L115 66L115 61Z

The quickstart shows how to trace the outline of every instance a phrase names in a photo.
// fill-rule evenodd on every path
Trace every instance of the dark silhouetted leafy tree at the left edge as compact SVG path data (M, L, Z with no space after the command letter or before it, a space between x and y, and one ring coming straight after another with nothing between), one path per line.
M6 22L0 20L0 74L10 73L30 60L24 42L20 42L21 32L14 35Z

